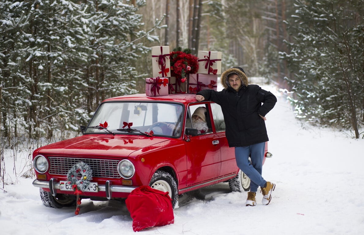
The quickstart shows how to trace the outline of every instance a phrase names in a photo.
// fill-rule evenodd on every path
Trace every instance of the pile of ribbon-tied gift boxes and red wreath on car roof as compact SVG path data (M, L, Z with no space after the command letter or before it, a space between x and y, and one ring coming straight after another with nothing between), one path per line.
M221 52L198 51L196 57L182 51L170 52L169 46L152 47L152 70L153 77L146 78L147 96L216 91Z

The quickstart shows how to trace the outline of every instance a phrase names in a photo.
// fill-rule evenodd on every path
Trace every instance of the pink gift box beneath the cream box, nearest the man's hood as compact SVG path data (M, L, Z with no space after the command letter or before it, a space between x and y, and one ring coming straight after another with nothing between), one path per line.
M217 75L202 73L190 74L188 93L195 94L206 89L217 91Z

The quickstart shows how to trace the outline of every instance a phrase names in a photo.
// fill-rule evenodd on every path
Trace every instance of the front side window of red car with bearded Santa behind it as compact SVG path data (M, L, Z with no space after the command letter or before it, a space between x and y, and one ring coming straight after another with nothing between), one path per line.
M185 127L197 129L198 134L211 132L211 122L205 104L188 107Z

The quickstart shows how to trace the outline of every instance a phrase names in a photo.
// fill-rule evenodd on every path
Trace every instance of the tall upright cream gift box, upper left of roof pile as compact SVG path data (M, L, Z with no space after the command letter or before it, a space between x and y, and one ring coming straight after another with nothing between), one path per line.
M152 47L153 77L170 77L169 46Z

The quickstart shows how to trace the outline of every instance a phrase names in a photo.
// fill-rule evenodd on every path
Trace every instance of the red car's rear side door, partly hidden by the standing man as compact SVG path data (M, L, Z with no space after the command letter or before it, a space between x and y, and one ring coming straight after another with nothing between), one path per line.
M225 136L225 121L222 115L221 106L211 103L211 113L213 118L213 126L217 135L218 146L221 151L221 176L230 175L238 171L235 160L235 150L230 148Z

